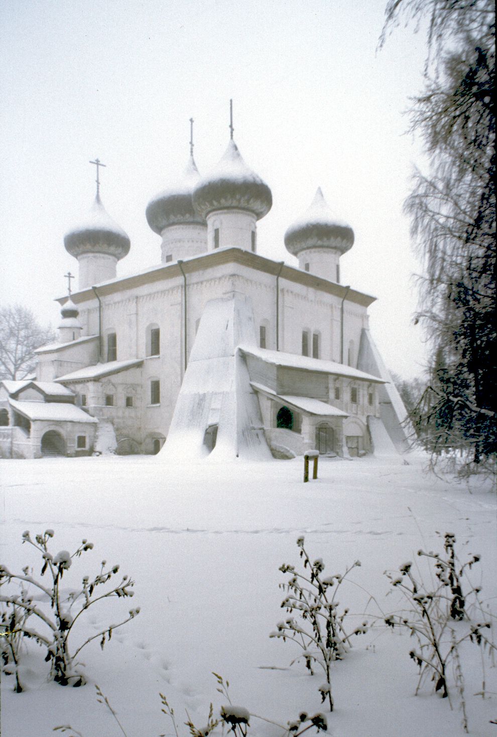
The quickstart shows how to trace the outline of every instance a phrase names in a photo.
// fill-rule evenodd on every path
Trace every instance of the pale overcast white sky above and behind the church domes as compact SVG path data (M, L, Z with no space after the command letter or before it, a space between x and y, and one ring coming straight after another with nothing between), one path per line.
M258 252L297 265L286 228L317 186L356 234L342 282L378 297L371 329L404 377L424 362L412 325L420 270L402 203L420 146L403 114L420 91L422 36L398 29L376 53L386 0L2 0L1 302L57 325L53 299L77 262L63 247L102 201L127 231L118 275L161 261L147 202L194 156L201 173L229 139L272 189Z

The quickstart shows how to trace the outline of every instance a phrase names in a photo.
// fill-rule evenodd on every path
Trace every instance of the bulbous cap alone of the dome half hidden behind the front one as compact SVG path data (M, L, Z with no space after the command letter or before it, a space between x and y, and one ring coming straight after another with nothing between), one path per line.
M195 223L205 226L205 218L195 211L191 194L200 180L193 156L188 159L183 177L150 200L145 212L152 231L161 235L167 226Z

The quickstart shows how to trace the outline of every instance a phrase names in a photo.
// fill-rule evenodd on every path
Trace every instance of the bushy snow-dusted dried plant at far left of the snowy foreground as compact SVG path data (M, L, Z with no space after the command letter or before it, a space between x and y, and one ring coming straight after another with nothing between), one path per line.
M63 576L65 574L67 576L66 572L74 559L94 547L93 543L84 539L74 553L59 551L52 554L48 544L54 537L53 530L36 535L34 540L29 531L24 532L22 537L23 543L27 542L40 553L42 558L40 576L46 576L48 580L42 582L35 579L29 566L23 568L22 574L18 574L11 573L7 567L0 565L1 624L4 626L8 624L7 631L14 632L19 638L15 641L14 649L7 649L7 655L2 648L4 672L9 672L12 663L15 665L16 660L18 661L20 640L31 638L46 647L45 660L50 663L50 676L54 681L60 685L82 685L85 678L80 672L80 663L77 662L77 656L82 649L96 638L100 639L100 646L103 649L106 640L110 640L113 630L133 619L140 610L130 609L127 618L87 638L74 652L69 649L68 640L71 632L81 615L96 601L113 596L123 598L133 596L134 581L128 576L122 576L119 584L113 582L110 587L105 587L105 584L118 573L119 565L106 567L104 560L99 573L93 579L90 576L83 576L80 587L63 590L61 586ZM19 582L20 590L12 590L12 587L7 590L10 584L16 582ZM6 635L7 646L11 637L13 635ZM0 639L4 640L3 637ZM15 690L18 690L18 685L20 684L16 676Z

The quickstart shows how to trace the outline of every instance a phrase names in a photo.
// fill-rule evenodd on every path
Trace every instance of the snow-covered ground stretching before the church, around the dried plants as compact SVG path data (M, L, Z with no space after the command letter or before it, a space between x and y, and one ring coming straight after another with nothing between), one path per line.
M55 531L52 551L74 550L82 538L94 550L74 561L63 579L76 587L99 562L116 562L135 579L135 596L105 600L80 618L78 638L88 637L125 615L141 613L117 629L105 649L95 640L82 653L88 684L63 688L46 681L43 651L29 647L24 680L14 694L12 677L1 680L1 737L49 737L71 724L85 737L122 734L110 712L96 702L98 684L128 737L173 735L161 713L159 692L175 709L180 736L186 711L197 726L226 702L211 672L230 682L230 697L251 713L286 724L302 710L325 711L303 664L290 667L293 643L270 639L284 617L286 581L278 568L299 563L297 537L305 536L325 573L340 573L356 559L352 581L340 600L350 612L380 614L398 608L389 595L385 569L417 561L419 548L443 551L439 534L457 536L462 559L479 553L473 568L482 598L496 611L496 497L492 484L468 486L423 472L421 458L320 460L320 478L302 483L303 462L166 465L158 457L99 457L0 461L1 562L19 571L40 562L24 530ZM424 575L427 569L424 570ZM429 576L427 577L429 580ZM359 584L357 586L356 584ZM86 620L86 621L85 621ZM359 620L352 619L350 629ZM370 616L371 621L371 616ZM72 636L72 635L71 635ZM495 635L494 635L495 636ZM335 710L327 713L335 737L443 737L462 734L454 710L431 693L429 683L414 696L417 668L409 659L412 640L378 626L353 641L345 660L334 664ZM482 689L479 648L462 652L470 733L497 734L496 668L486 662ZM251 719L257 736L277 737L278 727ZM60 733L57 733L60 734Z

